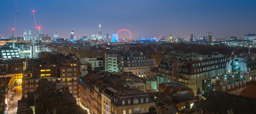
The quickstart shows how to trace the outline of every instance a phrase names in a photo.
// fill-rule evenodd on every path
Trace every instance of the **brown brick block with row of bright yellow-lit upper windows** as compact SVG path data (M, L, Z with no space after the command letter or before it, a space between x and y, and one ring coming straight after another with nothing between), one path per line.
M48 64L37 61L25 62L26 70L22 77L22 96L27 97L28 91L35 91L38 81L47 79L56 85L66 85L69 92L77 95L77 80L80 78L80 66L76 60L63 60L60 63ZM32 67L33 66L33 67Z

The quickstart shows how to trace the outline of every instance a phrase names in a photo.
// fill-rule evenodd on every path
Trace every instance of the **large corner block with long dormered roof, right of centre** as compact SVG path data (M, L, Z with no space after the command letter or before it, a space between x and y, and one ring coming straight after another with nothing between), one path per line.
M202 80L226 73L227 59L222 54L198 55L173 51L158 67L157 84L169 81L184 83L196 93Z

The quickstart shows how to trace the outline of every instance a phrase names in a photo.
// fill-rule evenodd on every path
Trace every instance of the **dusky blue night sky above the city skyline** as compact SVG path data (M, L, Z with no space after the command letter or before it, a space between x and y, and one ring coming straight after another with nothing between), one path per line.
M133 38L182 38L191 32L199 38L211 31L214 38L256 33L256 0L0 0L0 35L11 36L15 3L18 3L16 36L24 29L35 35L32 10L42 33L69 38L128 29ZM119 36L128 37L120 32Z

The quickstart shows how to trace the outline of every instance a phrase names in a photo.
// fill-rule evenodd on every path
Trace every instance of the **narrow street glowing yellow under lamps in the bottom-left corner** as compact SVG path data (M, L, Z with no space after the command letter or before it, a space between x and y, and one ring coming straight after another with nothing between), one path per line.
M8 114L16 114L18 109L18 100L22 98L22 85L13 86L16 89L16 95L14 96L13 100L10 100L10 110ZM12 91L14 91L14 89ZM10 98L11 99L11 98Z

